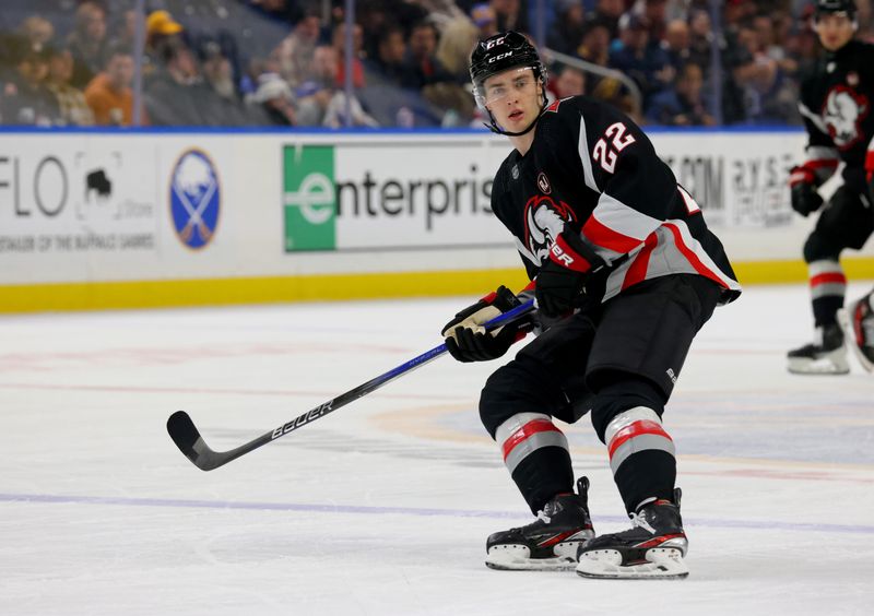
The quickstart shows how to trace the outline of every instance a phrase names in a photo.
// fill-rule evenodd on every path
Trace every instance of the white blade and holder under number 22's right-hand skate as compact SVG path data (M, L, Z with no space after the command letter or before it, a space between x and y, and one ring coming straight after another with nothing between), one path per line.
M675 548L653 547L639 565L622 565L622 554L615 549L598 549L582 554L577 574L599 580L670 580L689 574L683 554Z

